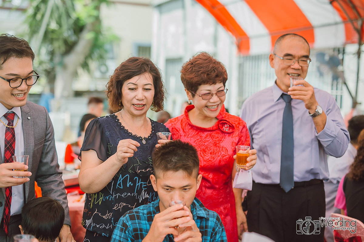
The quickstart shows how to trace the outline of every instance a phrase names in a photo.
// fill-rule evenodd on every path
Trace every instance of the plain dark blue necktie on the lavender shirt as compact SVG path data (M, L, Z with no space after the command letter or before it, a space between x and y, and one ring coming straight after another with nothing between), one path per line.
M286 106L283 111L282 122L281 175L279 184L285 192L288 192L294 186L292 98L290 95L282 93L282 99L285 101Z

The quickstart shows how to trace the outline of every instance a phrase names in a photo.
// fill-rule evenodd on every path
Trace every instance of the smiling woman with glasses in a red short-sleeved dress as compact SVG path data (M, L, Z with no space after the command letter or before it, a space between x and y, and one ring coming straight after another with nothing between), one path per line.
M241 189L233 188L235 146L250 146L245 122L225 111L227 73L221 62L201 53L182 66L181 80L189 105L185 113L165 123L172 139L194 145L200 159L202 181L196 197L207 209L217 212L226 230L227 241L237 242L241 226L247 230L241 207ZM250 150L246 169L256 163L256 150ZM237 226L238 225L238 226ZM239 234L239 235L238 235Z

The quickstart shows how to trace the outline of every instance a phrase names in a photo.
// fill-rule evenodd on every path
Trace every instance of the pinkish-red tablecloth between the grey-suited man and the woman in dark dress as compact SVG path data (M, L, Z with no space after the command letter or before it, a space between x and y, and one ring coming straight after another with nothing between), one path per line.
M68 207L70 208L71 233L76 242L83 242L86 233L86 229L81 224L84 208L84 201L79 201L81 197L82 195L67 196Z

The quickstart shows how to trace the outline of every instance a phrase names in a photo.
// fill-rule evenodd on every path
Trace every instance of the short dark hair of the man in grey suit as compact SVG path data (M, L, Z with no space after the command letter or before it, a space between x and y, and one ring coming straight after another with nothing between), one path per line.
M0 70L11 57L31 58L34 61L34 52L29 43L10 34L0 34Z

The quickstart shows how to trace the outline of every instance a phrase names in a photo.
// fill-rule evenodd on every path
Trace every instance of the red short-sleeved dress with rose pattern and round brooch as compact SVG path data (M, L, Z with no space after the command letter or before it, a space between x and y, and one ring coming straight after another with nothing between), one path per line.
M200 159L199 173L202 181L196 197L207 209L217 212L225 227L227 241L237 242L235 198L232 185L235 146L249 145L250 138L245 122L225 111L222 106L214 126L202 128L191 123L188 112L165 123L172 139L180 139L194 145Z

